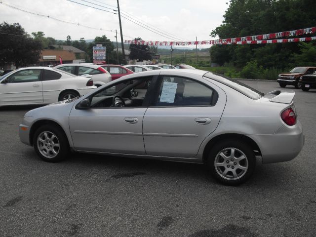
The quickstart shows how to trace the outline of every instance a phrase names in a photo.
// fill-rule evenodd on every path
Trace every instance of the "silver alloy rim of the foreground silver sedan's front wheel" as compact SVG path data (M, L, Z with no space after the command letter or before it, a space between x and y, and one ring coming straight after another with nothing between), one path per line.
M57 136L49 131L41 132L37 139L39 152L45 158L54 158L60 150L60 143Z

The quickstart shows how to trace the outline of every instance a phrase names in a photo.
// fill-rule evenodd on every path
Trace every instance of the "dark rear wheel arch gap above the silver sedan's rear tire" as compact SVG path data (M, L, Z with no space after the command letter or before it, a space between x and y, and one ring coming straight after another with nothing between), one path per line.
M216 137L213 137L211 140L208 141L206 146L204 147L203 150L203 163L206 163L207 157L213 146L221 141L225 140L237 140L237 141L242 141L244 143L247 143L250 145L251 149L255 151L256 156L261 156L261 151L257 143L252 140L250 137L242 134L237 134L237 133L226 133L226 134L221 134Z

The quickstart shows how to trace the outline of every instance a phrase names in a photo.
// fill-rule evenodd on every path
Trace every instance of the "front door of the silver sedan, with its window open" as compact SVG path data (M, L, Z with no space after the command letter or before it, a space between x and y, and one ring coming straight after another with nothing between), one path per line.
M145 155L143 118L152 77L134 78L99 89L88 109L72 109L70 130L76 150Z

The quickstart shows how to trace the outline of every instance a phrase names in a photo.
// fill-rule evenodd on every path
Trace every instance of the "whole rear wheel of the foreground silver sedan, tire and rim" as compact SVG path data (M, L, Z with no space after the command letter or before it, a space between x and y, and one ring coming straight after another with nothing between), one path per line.
M232 150L235 151L234 154L232 154ZM225 158L220 155L221 153L225 155ZM233 156L231 157L231 155ZM238 158L241 159L238 160ZM215 161L218 165L215 165ZM214 145L208 155L207 165L215 179L225 185L235 186L244 183L252 175L256 157L248 144L227 140Z

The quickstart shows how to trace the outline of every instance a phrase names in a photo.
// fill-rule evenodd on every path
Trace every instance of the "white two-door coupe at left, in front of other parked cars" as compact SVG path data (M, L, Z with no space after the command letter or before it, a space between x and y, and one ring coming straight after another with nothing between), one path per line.
M0 77L0 106L51 104L94 90L93 80L48 67L20 68Z

